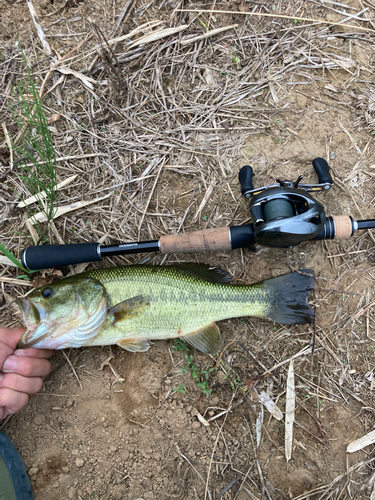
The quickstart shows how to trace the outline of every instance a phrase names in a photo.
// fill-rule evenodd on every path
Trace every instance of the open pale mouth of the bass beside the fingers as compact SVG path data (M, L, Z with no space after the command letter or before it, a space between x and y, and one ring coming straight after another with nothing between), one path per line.
M18 343L18 347L31 347L36 344L41 337L46 335L45 320L48 311L41 304L35 303L29 298L17 299L17 305L21 310L22 319L27 328Z

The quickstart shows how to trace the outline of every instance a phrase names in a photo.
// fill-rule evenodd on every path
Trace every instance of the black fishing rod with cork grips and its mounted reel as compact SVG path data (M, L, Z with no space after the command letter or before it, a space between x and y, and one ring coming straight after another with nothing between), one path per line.
M250 214L254 220L250 224L170 234L159 240L118 245L77 243L31 246L23 250L22 264L32 271L145 252L168 254L254 249L256 243L290 248L302 241L346 239L355 231L375 228L375 219L355 221L348 215L326 216L323 206L308 193L330 189L333 180L329 165L323 158L315 158L312 163L318 175L318 184L302 184L301 175L295 182L276 178L276 183L255 189L252 167L242 167L239 181L241 193L250 200Z

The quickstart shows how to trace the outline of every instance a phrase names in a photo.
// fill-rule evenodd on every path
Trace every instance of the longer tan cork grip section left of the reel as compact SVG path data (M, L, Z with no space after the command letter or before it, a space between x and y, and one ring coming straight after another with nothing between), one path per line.
M209 252L231 249L229 227L217 227L193 233L170 234L160 238L162 253Z

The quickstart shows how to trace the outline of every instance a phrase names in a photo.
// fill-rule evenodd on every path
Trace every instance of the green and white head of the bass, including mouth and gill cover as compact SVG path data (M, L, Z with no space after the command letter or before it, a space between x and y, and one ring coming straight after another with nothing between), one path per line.
M82 276L36 288L17 303L27 328L19 348L65 349L85 345L99 332L108 309L104 286Z

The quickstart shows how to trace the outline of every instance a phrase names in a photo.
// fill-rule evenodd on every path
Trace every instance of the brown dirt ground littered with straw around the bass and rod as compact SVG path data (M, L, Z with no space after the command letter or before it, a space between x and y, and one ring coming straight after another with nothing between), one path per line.
M198 83L194 85L201 85L202 92L208 92L207 86L212 83L212 74L208 71L216 67L218 59L215 58L221 54L229 53L229 62L227 60L223 71L231 78L238 78L235 87L240 89L238 95L242 95L241 89L246 87L245 84L241 87L241 78L255 82L250 97L243 97L243 101L241 97L230 104L231 113L224 103L221 111L215 108L216 114L210 118L211 122L205 123L205 130L198 124L196 132L187 131L189 147L177 140L174 143L173 134L167 133L165 137L163 133L155 134L155 138L150 136L152 140L147 139L147 146L146 142L141 143L141 136L149 132L147 127L153 123L146 105L144 117L142 113L135 115L144 127L137 132L131 130L136 127L134 120L124 125L122 115L108 111L112 108L110 104L106 107L105 99L110 102L113 98L116 82L105 62L104 69L100 70L103 74L100 73L100 78L96 74L95 78L112 83L103 96L95 87L99 94L97 102L100 102L97 109L93 108L96 104L92 104L90 93L78 81L70 85L64 83L62 97L52 92L46 98L48 116L53 111L62 113L52 129L58 156L98 152L95 158L59 163L62 178L74 173L80 176L79 182L61 194L60 204L90 196L94 199L106 195L108 186L115 186L99 208L92 205L92 208L72 212L65 221L56 219L56 231L65 243L99 238L104 244L137 238L146 240L178 230L188 232L248 222L248 202L241 198L237 177L242 165L253 166L255 186L273 182L276 177L295 180L298 175L304 175L303 182L316 182L312 167L316 157L329 161L334 178L330 191L314 195L326 213L352 215L356 220L374 218L374 121L371 121L374 117L369 111L369 96L374 92L373 22L349 18L347 23L373 30L366 32L339 26L325 31L326 26L311 28L307 21L300 21L302 17L331 22L345 18L343 4L323 1L287 1L274 5L217 1L201 2L199 6L163 1L151 2L148 6L142 4L143 10L141 2L135 4L135 17L133 14L128 17L117 36L129 33L136 23L146 20L163 19L167 26L173 27L187 22L186 18L176 16L175 8L211 9L214 6L219 10L283 13L290 19L277 25L280 32L274 52L270 49L274 35L265 42L262 34L274 32L276 25L272 23L281 23L281 20L245 19L241 15L232 19L224 14L212 17L210 29L235 21L240 25L236 36L224 32L217 38L198 42L190 46L194 47L192 59L182 62L178 59L180 52L176 55L168 47L163 48L165 54L162 54L166 60L173 59L173 64L168 66L168 72L164 71L162 86L168 99L173 94L168 94L168 88L176 89L176 107L188 106L186 89L191 83L186 79L195 66ZM15 54L16 35L34 64L36 60L45 59L27 5L22 1L2 1L1 5L2 70L6 58ZM372 2L350 0L346 5L348 15L367 8L361 19L375 18ZM84 22L89 18L95 20L109 39L111 26L122 8L116 1L89 4L40 0L35 1L34 6L48 34L47 40L60 55L93 33ZM203 33L202 23L207 27L208 18L209 14L198 16L199 22L193 22L191 33ZM241 23L246 24L246 30L241 31ZM305 30L303 23L309 24ZM243 36L242 54L239 33ZM256 34L255 40L250 40L249 33ZM284 33L292 40L288 42L290 52L280 42L284 40ZM342 36L337 36L338 33ZM302 50L298 44L303 37L307 44ZM142 56L145 68L150 67L149 54L159 50L158 44L162 42L154 43L146 46L147 54ZM281 49L274 57L277 43ZM310 49L311 53L306 55ZM116 50L121 52L120 47ZM182 53L185 49L179 50ZM240 67L233 53L240 54ZM292 71L284 72L279 78L280 68L299 61L301 54L306 55L305 62L296 63ZM339 59L337 63L336 56L346 59ZM309 66L313 57L316 57L316 67ZM93 55L88 62L92 58ZM44 59L41 64L48 68ZM98 61L102 60L105 58L99 53ZM336 61L335 64L332 61ZM72 67L83 71L88 62L84 66L72 62ZM132 72L140 71L137 64L135 59L122 66L124 80L129 81L129 95ZM162 67L163 62L160 64ZM250 68L247 73L246 65ZM3 72L5 97L1 112L2 121L8 125L11 121L6 114L8 84L14 79L11 74L17 76L20 67L9 62L8 72ZM35 72L40 69L33 68ZM186 86L185 94L180 84L177 85L182 69L187 72L180 82ZM141 85L143 79L146 89L144 97L147 97L147 85L150 85L150 94L157 87L150 83L155 77L152 71L139 73L138 83ZM225 98L237 96L233 93L234 87L232 94L229 91L227 75L212 72L215 80L212 85L220 88ZM41 78L38 85L40 82ZM263 90L257 88L257 82ZM134 81L132 85L135 88ZM228 89L225 85L229 85ZM102 86L105 88L104 83ZM212 95L217 95L214 90ZM60 106L59 99L63 102ZM113 106L125 109L124 102ZM201 105L199 100L195 102ZM164 109L162 98L160 109ZM165 121L173 122L165 123L169 133L180 123L182 114L175 118L172 107L168 109L171 118ZM158 113L156 108L154 111ZM220 118L220 112L228 116ZM92 120L100 113L108 113L109 117L100 123ZM194 126L196 115L193 111L187 115L190 118L184 115L186 122L181 123L188 126L191 119ZM85 131L73 130L73 118L86 127L87 137ZM214 120L217 121L214 123ZM216 127L226 130L215 132ZM106 134L110 134L110 140L103 139ZM125 134L128 134L126 137L134 134L134 141L138 134L139 146L132 143L130 148L125 139L121 141ZM113 151L119 151L118 157ZM101 163L99 153L104 158L107 155L106 162ZM157 155L164 155L165 163L161 165L165 168L147 170ZM127 167L130 164L131 169L126 170L124 164ZM4 172L6 162L2 165ZM153 174L150 182L142 180L136 187L130 183L150 172ZM19 209L6 212L6 200L13 196L9 195L14 186L11 175L3 181L2 237L19 255L20 250L30 244L30 239L24 227L27 214ZM209 196L205 200L207 191ZM14 233L15 225L18 229ZM49 234L50 241L57 243L56 233L50 230ZM373 498L373 445L353 454L348 454L346 448L370 432L375 424L374 236L374 231L359 231L345 241L305 242L291 249L258 246L256 253L236 250L167 258L150 254L101 262L102 267L146 261L201 262L229 270L236 279L247 283L290 270L311 268L317 277L311 297L316 322L284 327L254 318L223 321L219 325L222 334L219 357L204 355L192 348L184 350L175 341L155 341L148 352L136 354L116 346L57 351L42 392L2 424L25 460L36 500ZM17 276L15 268L1 267L0 278ZM67 270L63 272L66 274ZM30 288L16 281L1 283L5 306L0 311L2 324L21 324L20 316L7 304ZM260 403L259 395L266 393L281 412L285 411L286 377L292 358L297 405L292 458L287 463L284 416L276 419Z

